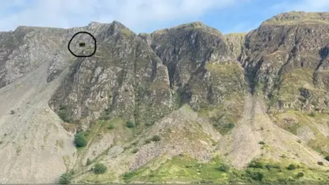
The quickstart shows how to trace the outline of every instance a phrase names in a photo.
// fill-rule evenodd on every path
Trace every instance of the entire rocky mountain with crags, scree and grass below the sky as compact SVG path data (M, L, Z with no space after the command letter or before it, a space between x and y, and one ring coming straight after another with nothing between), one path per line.
M0 182L326 184L328 32L328 12L0 32Z

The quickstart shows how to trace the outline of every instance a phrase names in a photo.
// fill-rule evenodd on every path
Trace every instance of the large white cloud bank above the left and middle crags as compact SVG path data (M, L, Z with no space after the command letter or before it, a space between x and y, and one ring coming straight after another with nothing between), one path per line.
M141 32L162 23L199 18L248 0L11 0L0 6L0 30L19 25L76 27L114 20Z

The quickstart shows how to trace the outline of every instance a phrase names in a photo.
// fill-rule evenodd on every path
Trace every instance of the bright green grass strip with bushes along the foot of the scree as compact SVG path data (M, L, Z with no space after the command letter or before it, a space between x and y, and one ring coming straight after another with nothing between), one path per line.
M136 171L125 173L124 182L185 182L185 183L319 183L328 182L325 171L315 171L302 164L289 170L289 164L280 164L265 160L254 160L247 169L236 170L227 165L219 157L202 163L187 156L177 156L167 160L158 169L142 167ZM225 170L223 170L225 169ZM300 175L304 174L303 177ZM299 174L299 175L298 175Z

